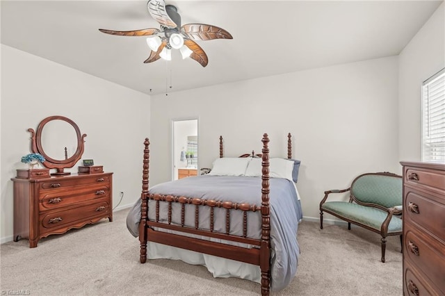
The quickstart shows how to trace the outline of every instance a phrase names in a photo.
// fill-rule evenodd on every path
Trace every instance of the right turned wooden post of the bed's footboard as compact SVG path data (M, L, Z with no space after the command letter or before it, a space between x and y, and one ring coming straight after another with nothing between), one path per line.
M262 176L261 176L261 249L259 267L261 268L261 295L270 291L270 205L269 205L269 138L263 135Z

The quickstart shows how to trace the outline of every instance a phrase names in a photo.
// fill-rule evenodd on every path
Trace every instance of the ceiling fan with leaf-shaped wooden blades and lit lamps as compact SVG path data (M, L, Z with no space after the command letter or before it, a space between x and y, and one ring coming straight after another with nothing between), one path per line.
M161 29L144 28L135 31L111 31L99 28L99 31L120 36L149 36L147 44L151 49L144 63L152 63L159 58L171 60L171 50L179 49L182 58L193 58L202 67L206 67L209 58L194 40L233 39L225 29L209 24L184 24L176 6L165 5L163 0L147 2L149 14L159 22Z

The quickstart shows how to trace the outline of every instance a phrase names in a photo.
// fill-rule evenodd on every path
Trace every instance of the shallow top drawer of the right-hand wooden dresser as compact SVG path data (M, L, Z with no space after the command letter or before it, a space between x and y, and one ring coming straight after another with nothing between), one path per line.
M445 195L445 171L406 167L405 184L439 192L443 197Z

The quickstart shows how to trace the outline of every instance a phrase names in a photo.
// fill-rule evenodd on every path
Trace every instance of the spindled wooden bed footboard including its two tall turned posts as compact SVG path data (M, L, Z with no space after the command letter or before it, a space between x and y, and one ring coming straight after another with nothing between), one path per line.
M261 269L261 295L269 295L270 291L270 204L269 204L269 138L264 133L261 140L263 142L262 149L262 176L261 176L261 206L253 204L236 204L234 202L217 202L215 200L207 200L193 197L172 196L149 194L149 140L145 139L144 159L143 159L143 190L141 193L141 219L139 224L139 240L140 240L140 263L147 261L147 241L159 242L163 245L170 245L182 249L189 249L195 252L220 256L236 261L259 265ZM221 142L221 139L220 139ZM222 154L222 146L220 145L220 156ZM156 206L156 217L149 220L148 217L148 201L154 201ZM159 218L159 204L161 202L168 203L168 221L161 221ZM180 204L181 206L181 223L172 223L172 204ZM195 206L195 225L194 227L186 226L184 223L184 212L186 205ZM205 207L210 211L210 222L208 229L202 229L199 225L200 207ZM214 208L224 208L226 213L225 233L216 232L213 229L213 211ZM152 210L153 211L153 210ZM230 213L231 211L243 211L243 235L236 236L230 233ZM247 223L249 211L260 211L261 213L261 238L248 238ZM156 229L165 229L159 231ZM253 245L252 248L238 247L227 243L213 242L211 240L202 240L200 238L191 238L172 233L179 231L181 233L190 233L198 236L206 236L209 238L219 238L231 242L241 242Z

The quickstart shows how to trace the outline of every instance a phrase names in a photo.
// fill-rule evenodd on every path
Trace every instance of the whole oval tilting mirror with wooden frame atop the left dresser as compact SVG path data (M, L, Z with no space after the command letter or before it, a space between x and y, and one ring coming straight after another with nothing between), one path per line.
M55 168L52 175L70 174L64 172L67 167L73 167L82 157L84 138L79 126L63 116L50 116L42 120L37 131L28 129L31 133L31 151L42 154L44 167Z

